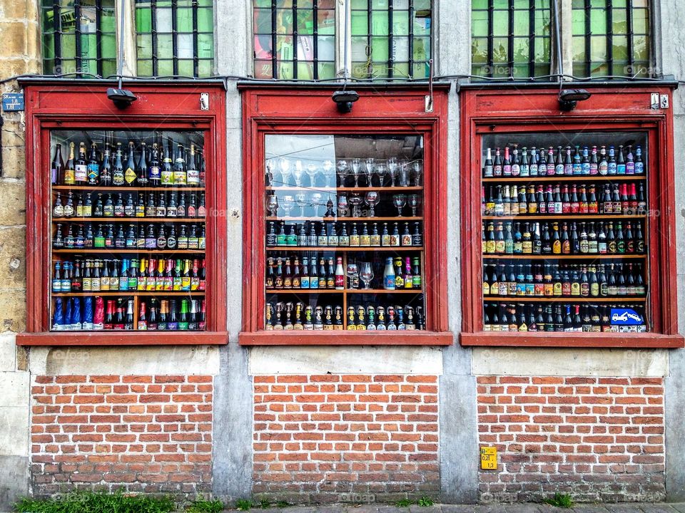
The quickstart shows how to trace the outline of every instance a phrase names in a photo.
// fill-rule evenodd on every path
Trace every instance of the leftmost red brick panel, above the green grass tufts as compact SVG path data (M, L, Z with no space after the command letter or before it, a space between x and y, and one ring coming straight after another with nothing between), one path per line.
M209 375L36 376L34 494L211 491Z

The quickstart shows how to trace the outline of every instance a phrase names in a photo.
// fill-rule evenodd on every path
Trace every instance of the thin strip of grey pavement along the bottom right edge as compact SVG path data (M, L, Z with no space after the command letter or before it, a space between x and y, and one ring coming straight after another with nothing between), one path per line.
M232 510L233 511L233 510ZM548 504L435 504L434 506L349 505L298 506L286 508L250 509L260 513L685 513L685 502L649 504L619 502L617 504L576 504L571 509Z

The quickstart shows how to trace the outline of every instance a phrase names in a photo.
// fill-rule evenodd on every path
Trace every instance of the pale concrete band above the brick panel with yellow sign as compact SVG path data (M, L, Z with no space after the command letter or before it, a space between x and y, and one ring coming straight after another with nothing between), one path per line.
M644 376L669 373L666 349L474 348L475 375Z

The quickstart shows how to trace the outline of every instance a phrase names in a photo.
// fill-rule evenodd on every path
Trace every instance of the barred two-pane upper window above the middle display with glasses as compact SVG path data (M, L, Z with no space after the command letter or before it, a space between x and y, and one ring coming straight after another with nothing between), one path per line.
M254 0L253 6L255 78L330 80L341 68L360 79L430 75L430 0Z

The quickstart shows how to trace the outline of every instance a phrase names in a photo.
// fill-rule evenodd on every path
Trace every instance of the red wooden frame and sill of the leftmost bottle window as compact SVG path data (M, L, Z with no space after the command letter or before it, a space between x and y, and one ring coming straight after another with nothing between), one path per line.
M138 97L126 110L108 100L113 84L32 82L26 95L26 331L19 346L139 346L224 344L226 331L225 90L223 83L193 86L156 83L126 85ZM116 86L115 86L116 87ZM209 110L200 94L208 93ZM215 169L207 173L206 260L207 331L49 331L50 148L51 130L113 129L205 130Z

